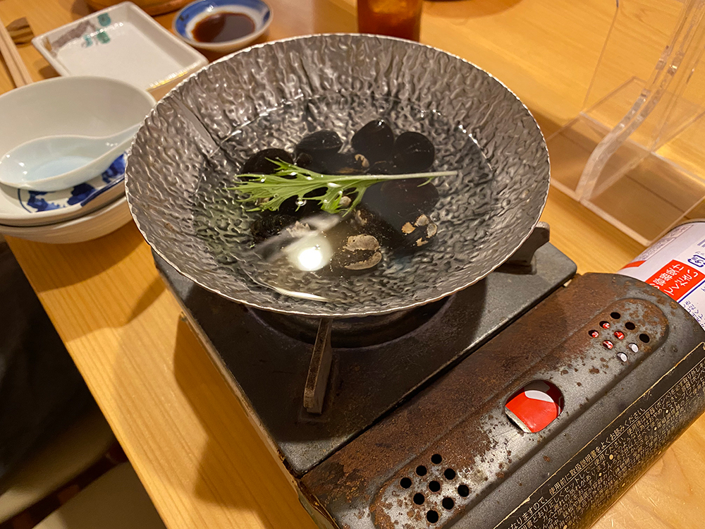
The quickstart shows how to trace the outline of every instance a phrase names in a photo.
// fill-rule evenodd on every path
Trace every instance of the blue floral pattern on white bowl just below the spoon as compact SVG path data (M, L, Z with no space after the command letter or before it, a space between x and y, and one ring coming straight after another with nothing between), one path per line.
M78 186L61 191L18 189L17 197L20 205L30 213L62 209L76 204L84 206L125 179L125 163L126 155L121 154L102 174Z

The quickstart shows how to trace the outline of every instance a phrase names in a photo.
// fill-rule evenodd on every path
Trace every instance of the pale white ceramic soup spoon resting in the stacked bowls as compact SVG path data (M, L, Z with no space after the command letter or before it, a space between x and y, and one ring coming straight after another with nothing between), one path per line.
M0 183L33 191L78 186L108 169L138 128L103 138L61 135L24 142L0 158Z

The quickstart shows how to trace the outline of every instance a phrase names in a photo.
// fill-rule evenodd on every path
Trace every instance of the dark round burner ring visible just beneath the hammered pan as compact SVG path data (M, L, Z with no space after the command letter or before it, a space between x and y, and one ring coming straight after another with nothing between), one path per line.
M391 314L333 320L331 345L340 347L367 347L386 343L418 329L431 320L449 298L409 310ZM299 315L278 314L267 310L252 309L264 324L283 332L290 338L315 343L320 320Z

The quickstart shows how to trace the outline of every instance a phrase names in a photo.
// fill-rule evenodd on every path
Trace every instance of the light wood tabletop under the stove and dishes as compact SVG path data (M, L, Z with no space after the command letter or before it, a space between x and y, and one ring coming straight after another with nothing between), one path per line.
M355 31L354 0L268 1L269 39ZM552 133L580 111L613 4L429 1L422 42L494 74ZM87 13L83 0L0 0L4 23L25 16L36 35ZM170 27L172 18L157 20ZM20 54L35 80L56 75L31 45ZM0 92L11 88L0 66ZM543 219L579 272L613 272L642 250L556 190ZM88 243L8 243L168 528L314 527L180 316L133 223ZM703 475L701 418L596 527L702 527Z

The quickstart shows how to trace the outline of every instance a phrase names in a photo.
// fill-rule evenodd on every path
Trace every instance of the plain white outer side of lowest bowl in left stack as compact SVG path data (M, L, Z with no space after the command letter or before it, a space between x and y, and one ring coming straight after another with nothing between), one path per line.
M123 196L106 207L78 219L49 226L18 227L0 224L0 233L38 243L82 243L112 233L130 220L132 220L130 208L127 198Z

